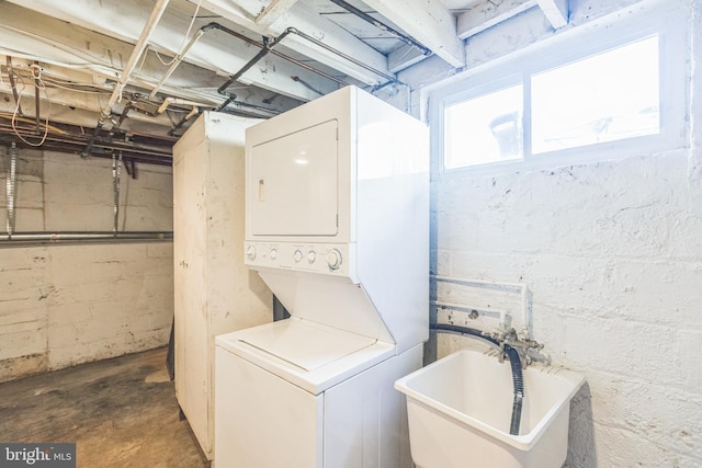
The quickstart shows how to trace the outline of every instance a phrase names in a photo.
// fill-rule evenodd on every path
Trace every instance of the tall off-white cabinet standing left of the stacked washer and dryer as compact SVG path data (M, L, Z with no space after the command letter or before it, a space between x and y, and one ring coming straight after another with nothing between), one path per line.
M173 147L176 393L214 453L214 338L270 322L272 294L244 265L244 134L256 121L206 112Z

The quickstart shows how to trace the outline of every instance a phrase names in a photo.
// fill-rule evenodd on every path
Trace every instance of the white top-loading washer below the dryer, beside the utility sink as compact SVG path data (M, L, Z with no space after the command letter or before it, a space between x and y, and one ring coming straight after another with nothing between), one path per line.
M397 356L296 318L216 341L217 467L407 466L404 399L390 388L421 366L421 345Z

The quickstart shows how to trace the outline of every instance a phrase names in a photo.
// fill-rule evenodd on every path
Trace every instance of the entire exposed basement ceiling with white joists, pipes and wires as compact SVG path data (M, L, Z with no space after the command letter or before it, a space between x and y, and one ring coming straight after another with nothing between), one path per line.
M536 7L554 28L568 22L567 0L168 0L115 92L162 2L0 0L0 138L21 139L10 118L26 135L79 129L78 146L95 128L101 138L144 129L158 139L206 110L267 118L346 84L409 102L409 85L386 84L429 56L430 66L463 67L472 34Z

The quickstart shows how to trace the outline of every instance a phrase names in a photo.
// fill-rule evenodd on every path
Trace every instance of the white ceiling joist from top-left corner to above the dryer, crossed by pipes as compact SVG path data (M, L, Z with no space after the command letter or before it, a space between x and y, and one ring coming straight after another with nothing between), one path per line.
M59 11L54 11L55 9L53 9L52 12L55 18L59 18L63 22L54 19L37 22L36 13L27 14L30 13L29 10L19 7L11 8L12 5L7 5L5 8L9 14L21 16L23 31L34 28L37 37L45 37L47 39L47 48L50 49L52 43L59 44L59 47L66 48L68 47L66 45L67 39L75 38L76 41L70 44L71 50L88 49L90 55L106 53L110 58L105 65L116 73L120 73L133 49L128 44L133 44L138 39L143 24L135 22L124 23L112 19L120 15L121 9L138 10L139 3L141 3L140 0L123 0L121 3L105 2L104 7L99 7L99 3L91 2L89 3L90 7L86 9L66 8ZM37 0L27 0L27 5L41 10L39 4L41 2ZM4 20L0 21L7 24L7 27L18 27L18 23L9 22L9 14L7 23ZM5 18L5 14L3 14L3 18ZM52 23L50 28L46 27L47 23ZM200 21L200 23L203 23L203 21ZM81 31L76 31L77 27L75 25L82 26ZM178 54L183 44L183 35L188 30L188 25L189 19L178 11L169 10L163 14L158 27L154 31L151 44L160 54L169 55L165 59ZM195 28L200 26L201 24L194 25ZM65 34L68 34L68 36ZM89 37L88 39L84 38L86 35ZM109 37L120 37L123 42L118 44L116 41L110 41ZM92 43L92 39L97 41L97 43ZM252 47L250 44L222 32L213 31L203 36L189 50L184 61L219 72L224 82L227 76L236 73L259 50L260 48L258 47ZM46 57L46 59L49 58ZM168 67L161 66L160 68L159 72L162 75ZM271 73L271 69L276 69L279 72ZM139 72L137 71L137 77L135 77L137 81L138 75ZM338 85L321 79L318 75L299 69L278 57L270 57L263 66L251 68L247 72L246 82L260 85L263 89L274 89L276 92L303 101L318 98L319 94L312 92L308 88L302 85L299 81L291 79L292 76L299 77L304 82L310 83L315 89L325 93L338 88ZM225 96L220 96L218 101L223 102L225 99Z

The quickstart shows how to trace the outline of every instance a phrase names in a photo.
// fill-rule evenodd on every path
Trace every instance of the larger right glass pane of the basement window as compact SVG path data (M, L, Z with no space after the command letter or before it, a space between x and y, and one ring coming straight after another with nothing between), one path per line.
M657 134L658 36L532 77L532 152Z

